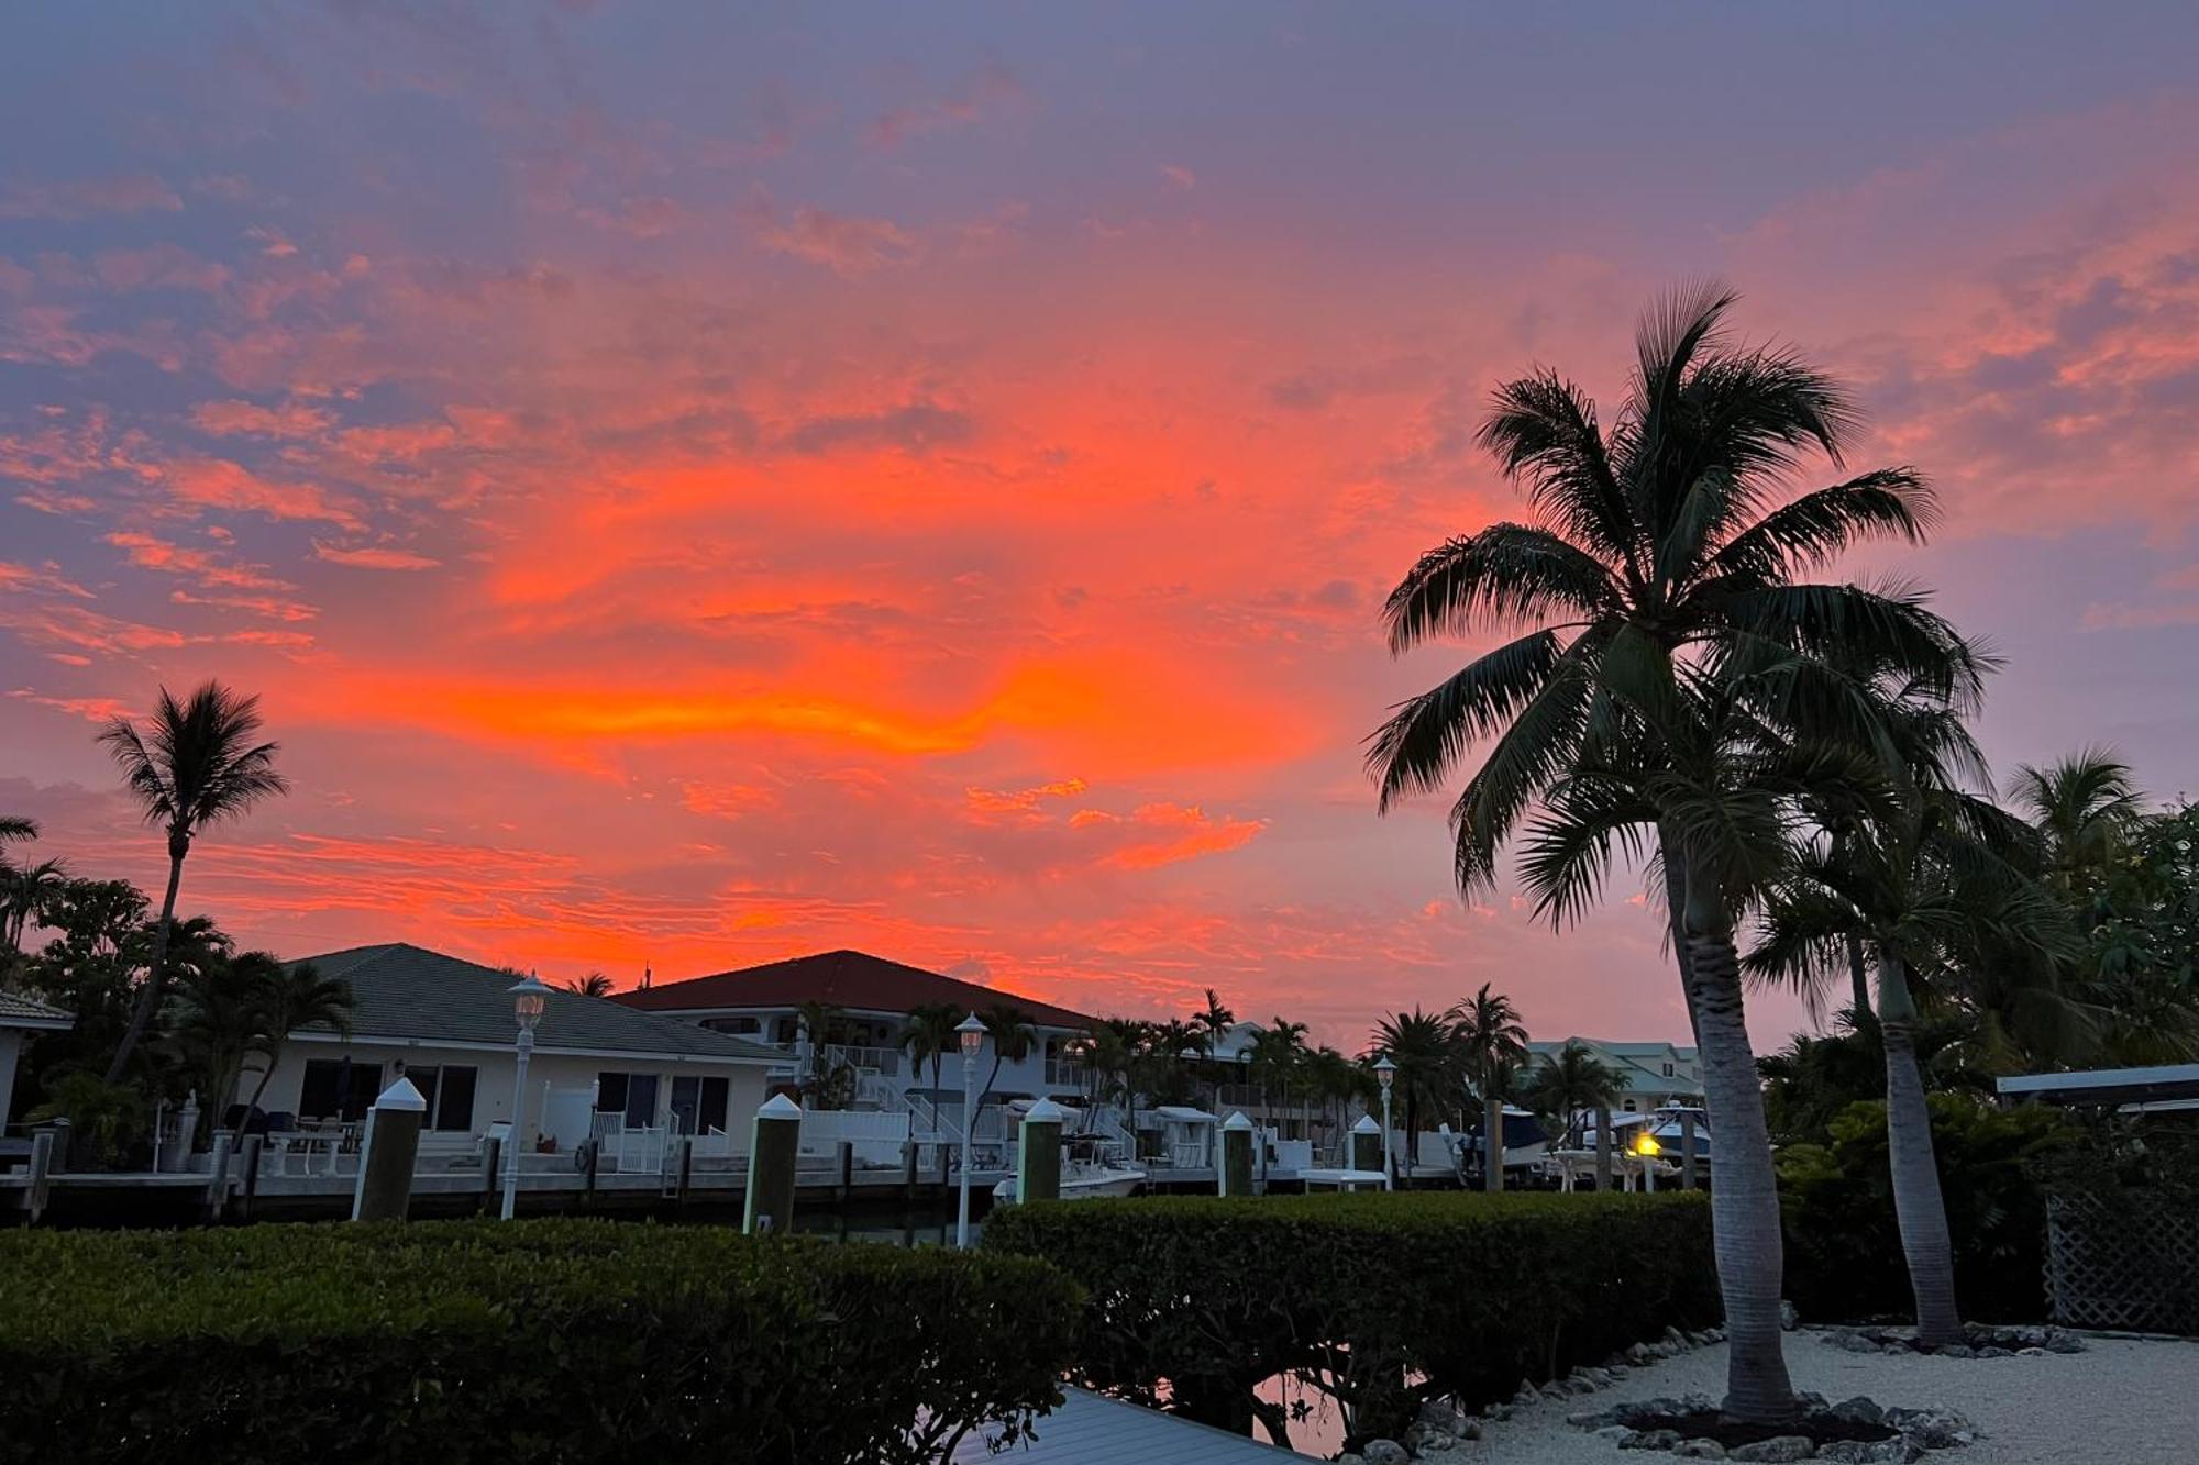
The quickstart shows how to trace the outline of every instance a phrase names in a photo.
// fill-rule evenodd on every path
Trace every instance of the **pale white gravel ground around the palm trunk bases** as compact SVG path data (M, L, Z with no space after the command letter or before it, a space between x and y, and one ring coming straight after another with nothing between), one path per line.
M1933 1450L1929 1465L2179 1465L2199 1461L2199 1342L2085 1337L2085 1353L2047 1357L1926 1357L1845 1353L1803 1329L1788 1333L1794 1388L1832 1401L1940 1403L1979 1428L1966 1450ZM1566 1423L1566 1414L1660 1395L1726 1392L1726 1344L1629 1368L1623 1384L1552 1399L1487 1425L1451 1458L1489 1465L1656 1465L1669 1454L1621 1452Z

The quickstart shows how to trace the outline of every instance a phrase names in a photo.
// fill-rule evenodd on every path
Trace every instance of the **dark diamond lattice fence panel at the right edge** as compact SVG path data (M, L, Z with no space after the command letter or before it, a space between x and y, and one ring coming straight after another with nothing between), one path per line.
M2199 1335L2199 1214L2144 1192L2047 1197L2047 1300L2065 1326Z

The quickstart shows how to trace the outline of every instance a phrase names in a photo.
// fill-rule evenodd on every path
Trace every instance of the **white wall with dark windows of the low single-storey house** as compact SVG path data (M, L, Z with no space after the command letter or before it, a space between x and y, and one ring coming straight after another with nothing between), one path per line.
M286 1043L281 1060L275 1065L275 1078L268 1082L259 1106L268 1113L297 1113L306 1087L306 1065L312 1060L343 1060L345 1056L350 1056L354 1065L380 1065L380 1089L396 1082L396 1065L400 1062L407 1067L468 1065L475 1069L473 1120L468 1133L479 1135L490 1124L506 1122L512 1115L512 1069L517 1062L512 1049L431 1047L424 1043ZM534 1058L528 1062L528 1117L537 1126L541 1124L545 1084L556 1091L587 1091L596 1087L598 1073L605 1071L655 1073L658 1124L664 1124L671 1117L673 1078L726 1078L726 1131L741 1137L743 1144L748 1124L765 1098L765 1065L761 1062L723 1062L708 1058L675 1062L666 1058L618 1058L537 1049ZM248 1095L257 1082L257 1073L246 1073L240 1084L240 1093ZM438 1120L440 1115L431 1111L429 1122L435 1124Z

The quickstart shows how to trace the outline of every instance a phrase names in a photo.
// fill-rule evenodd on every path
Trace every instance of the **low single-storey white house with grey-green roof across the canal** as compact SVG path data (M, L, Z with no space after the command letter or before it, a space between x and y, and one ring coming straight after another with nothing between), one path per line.
M350 1032L301 1027L281 1045L259 1106L299 1120L358 1120L409 1078L427 1100L429 1135L460 1137L510 1122L512 974L420 946L354 946L301 957L352 988ZM552 990L534 1029L528 1113L563 1144L587 1137L587 1111L627 1128L748 1133L781 1054L693 1023ZM257 1082L248 1073L244 1091ZM559 1095L559 1104L545 1102ZM576 1122L567 1115L578 1106ZM561 1133L576 1128L578 1133Z

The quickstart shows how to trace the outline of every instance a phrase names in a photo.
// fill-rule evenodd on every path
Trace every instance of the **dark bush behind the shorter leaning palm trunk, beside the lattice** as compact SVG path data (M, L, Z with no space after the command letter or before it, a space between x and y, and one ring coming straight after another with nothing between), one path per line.
M2001 1111L1959 1093L1933 1093L1931 1137L1940 1161L1955 1293L1977 1322L2045 1318L2045 1194L2032 1168L2074 1142L2054 1111ZM1913 1318L1909 1269L1893 1221L1887 1106L1858 1102L1832 1120L1830 1144L1779 1150L1786 1216L1786 1291L1812 1320Z

